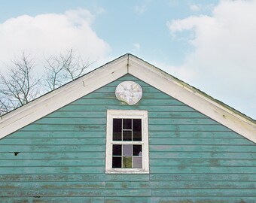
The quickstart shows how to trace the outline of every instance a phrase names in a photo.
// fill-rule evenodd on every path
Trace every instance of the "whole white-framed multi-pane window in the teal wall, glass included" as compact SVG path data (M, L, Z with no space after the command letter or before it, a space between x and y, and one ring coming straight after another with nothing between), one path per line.
M107 114L106 173L148 173L148 111Z

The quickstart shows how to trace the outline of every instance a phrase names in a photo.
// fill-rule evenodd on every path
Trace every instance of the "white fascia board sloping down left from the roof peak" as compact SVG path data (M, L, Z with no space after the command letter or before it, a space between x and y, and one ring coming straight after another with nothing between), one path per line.
M127 74L128 55L0 117L0 139Z

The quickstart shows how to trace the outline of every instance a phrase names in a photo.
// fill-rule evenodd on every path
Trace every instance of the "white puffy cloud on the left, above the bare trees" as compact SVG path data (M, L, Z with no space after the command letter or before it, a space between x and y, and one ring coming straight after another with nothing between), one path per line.
M100 60L110 47L91 28L94 19L90 11L78 9L6 20L0 24L0 62L8 63L23 51L42 59L71 48L86 59Z

